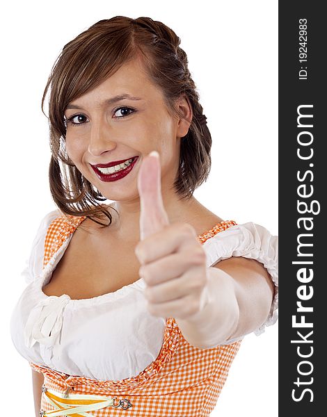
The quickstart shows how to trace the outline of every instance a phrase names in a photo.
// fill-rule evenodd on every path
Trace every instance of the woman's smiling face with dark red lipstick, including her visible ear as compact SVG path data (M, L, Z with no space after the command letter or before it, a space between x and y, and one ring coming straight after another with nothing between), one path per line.
M178 106L189 116L186 99L179 99ZM122 65L97 88L73 100L65 119L67 154L104 197L138 198L138 170L153 150L160 156L162 193L170 190L179 166L180 138L189 123L169 115L161 89L148 79L140 61ZM108 164L115 166L103 166Z

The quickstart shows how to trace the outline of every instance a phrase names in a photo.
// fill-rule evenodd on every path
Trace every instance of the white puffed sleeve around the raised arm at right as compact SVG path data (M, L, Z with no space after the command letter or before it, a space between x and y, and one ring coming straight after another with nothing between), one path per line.
M278 318L278 236L272 236L260 224L248 222L217 233L206 240L203 246L208 266L231 256L244 256L262 263L269 272L275 293L266 322L255 330L255 334L262 334L264 328L273 325Z

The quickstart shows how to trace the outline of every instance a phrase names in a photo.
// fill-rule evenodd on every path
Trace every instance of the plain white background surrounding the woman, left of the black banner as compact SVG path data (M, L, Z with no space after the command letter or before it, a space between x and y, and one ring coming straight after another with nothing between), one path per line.
M213 138L212 171L195 197L224 220L253 221L278 234L277 1L8 3L1 10L0 77L3 414L34 413L31 370L13 347L9 320L35 231L56 208L42 93L64 44L115 15L152 17L182 39ZM212 417L278 415L277 347L278 325L246 336Z

